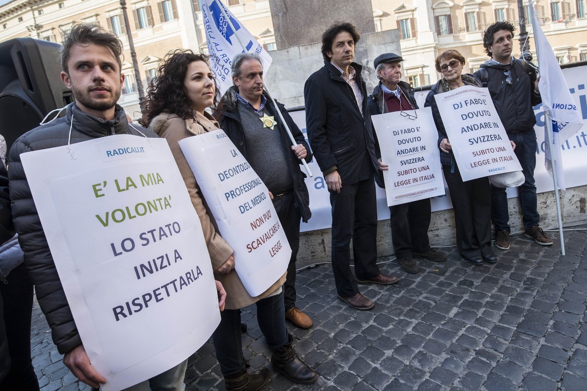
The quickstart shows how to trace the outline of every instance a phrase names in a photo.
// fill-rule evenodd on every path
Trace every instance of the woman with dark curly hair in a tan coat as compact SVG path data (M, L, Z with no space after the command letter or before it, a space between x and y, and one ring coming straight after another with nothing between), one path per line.
M270 373L265 367L248 373L242 355L240 309L253 303L257 305L259 328L273 351L273 368L296 383L313 383L318 380L318 374L298 358L285 328L282 291L285 274L261 295L251 297L248 294L233 270L232 248L218 233L214 216L178 144L184 138L218 129L217 121L205 111L208 107L216 107L219 98L207 61L207 56L190 50L176 50L167 55L147 89L143 119L139 122L167 139L200 217L214 276L227 291L220 325L212 334L225 387L227 390L252 391L261 389L269 381Z

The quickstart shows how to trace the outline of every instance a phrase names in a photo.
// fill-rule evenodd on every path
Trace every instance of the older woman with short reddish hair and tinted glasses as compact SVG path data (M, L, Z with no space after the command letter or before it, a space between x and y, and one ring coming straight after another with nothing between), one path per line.
M443 165L444 179L448 184L450 199L453 202L454 222L457 230L457 248L461 256L474 265L483 262L495 263L497 257L491 250L491 190L487 178L477 178L463 182L453 150L434 95L464 86L481 87L472 74L463 74L465 59L457 50L445 50L436 57L434 65L443 78L436 83L424 106L432 107L434 122L438 130L440 162Z

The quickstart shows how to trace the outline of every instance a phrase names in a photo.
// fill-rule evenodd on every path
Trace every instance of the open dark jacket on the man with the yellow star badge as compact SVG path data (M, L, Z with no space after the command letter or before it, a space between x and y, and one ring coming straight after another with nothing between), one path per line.
M288 124L289 130L292 132L295 141L298 144L302 144L303 147L306 148L306 151L308 151L308 155L306 156L306 163L309 163L312 160L312 152L310 151L308 143L306 143L306 138L303 137L302 131L299 130L298 125L296 125L288 111L285 110L284 105L277 102L277 106L279 107L279 111L281 111L281 115L284 116L284 119ZM277 121L276 128L278 128L279 132L281 133L281 140L285 150L291 152L287 154L287 157L289 172L291 172L292 178L294 178L295 201L302 215L302 221L307 223L310 217L312 217L312 212L310 211L310 196L308 193L308 188L306 187L306 182L304 182L306 174L305 172L301 171L299 166L302 164L302 162L296 158L294 151L290 149L292 145L291 140L289 140L289 136L285 131L285 127L283 127L281 124L281 118L279 118L279 115L275 114L275 108L273 104L271 104L271 100L269 100L269 98L267 98L267 104L265 108L269 115L273 115ZM227 93L224 94L222 97L222 104L220 109L222 111L216 115L218 117L218 123L220 123L220 128L224 130L224 132L228 135L228 138L230 138L232 143L236 145L245 159L248 159L249 155L247 151L247 138L245 137L244 131L242 131L241 116L237 109L236 87L230 87Z

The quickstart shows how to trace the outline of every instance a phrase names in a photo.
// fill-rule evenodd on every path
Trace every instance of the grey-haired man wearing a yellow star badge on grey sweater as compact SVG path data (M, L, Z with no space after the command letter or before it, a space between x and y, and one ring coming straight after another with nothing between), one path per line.
M222 129L273 194L275 211L292 249L284 284L285 318L297 327L310 328L312 319L295 305L295 277L300 219L308 222L312 216L305 174L299 165L301 159L311 161L312 154L298 125L278 104L298 145L294 147L289 140L264 91L262 70L257 53L240 53L232 59L235 85L222 96L217 117Z

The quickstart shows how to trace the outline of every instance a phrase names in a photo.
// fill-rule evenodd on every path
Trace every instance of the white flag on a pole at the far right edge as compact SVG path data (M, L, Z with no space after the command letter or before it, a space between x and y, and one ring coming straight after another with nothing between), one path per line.
M540 80L538 87L542 96L542 109L548 113L552 120L552 140L548 140L546 127L544 128L544 140L552 143L552 156L546 148L544 164L546 171L552 176L552 162L555 162L558 187L564 194L566 188L565 176L562 172L561 145L581 129L583 118L571 96L565 77L562 75L561 66L542 31L536 11L534 11L532 19L532 29L534 29L534 42L539 55Z

